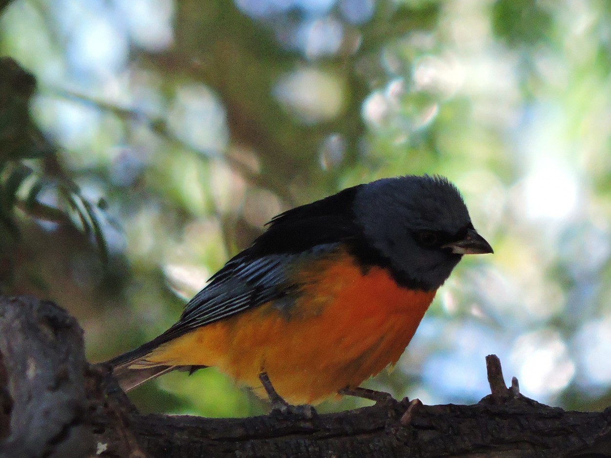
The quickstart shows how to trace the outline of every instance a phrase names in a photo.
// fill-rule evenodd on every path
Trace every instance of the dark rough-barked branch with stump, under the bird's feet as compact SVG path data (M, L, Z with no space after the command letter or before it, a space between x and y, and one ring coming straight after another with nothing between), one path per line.
M142 415L50 302L0 297L0 457L611 457L611 408L565 412L507 388L475 405L392 402L313 418Z

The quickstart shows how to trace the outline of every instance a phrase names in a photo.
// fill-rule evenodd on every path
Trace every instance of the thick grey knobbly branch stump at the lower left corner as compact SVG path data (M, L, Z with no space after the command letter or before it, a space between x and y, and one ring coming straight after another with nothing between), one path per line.
M6 457L81 457L92 447L86 424L87 368L82 330L51 302L0 300L0 353ZM0 377L2 378L2 377ZM10 411L10 420L6 413Z

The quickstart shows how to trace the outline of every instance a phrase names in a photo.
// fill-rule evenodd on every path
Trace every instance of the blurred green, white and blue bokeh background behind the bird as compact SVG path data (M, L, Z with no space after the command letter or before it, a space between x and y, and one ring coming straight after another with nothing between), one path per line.
M31 72L1 61L1 288L70 310L91 361L163 332L280 211L439 173L495 253L459 265L367 386L477 402L494 353L538 401L611 404L611 2L3 0L0 15L0 55ZM214 369L131 397L266 409Z

